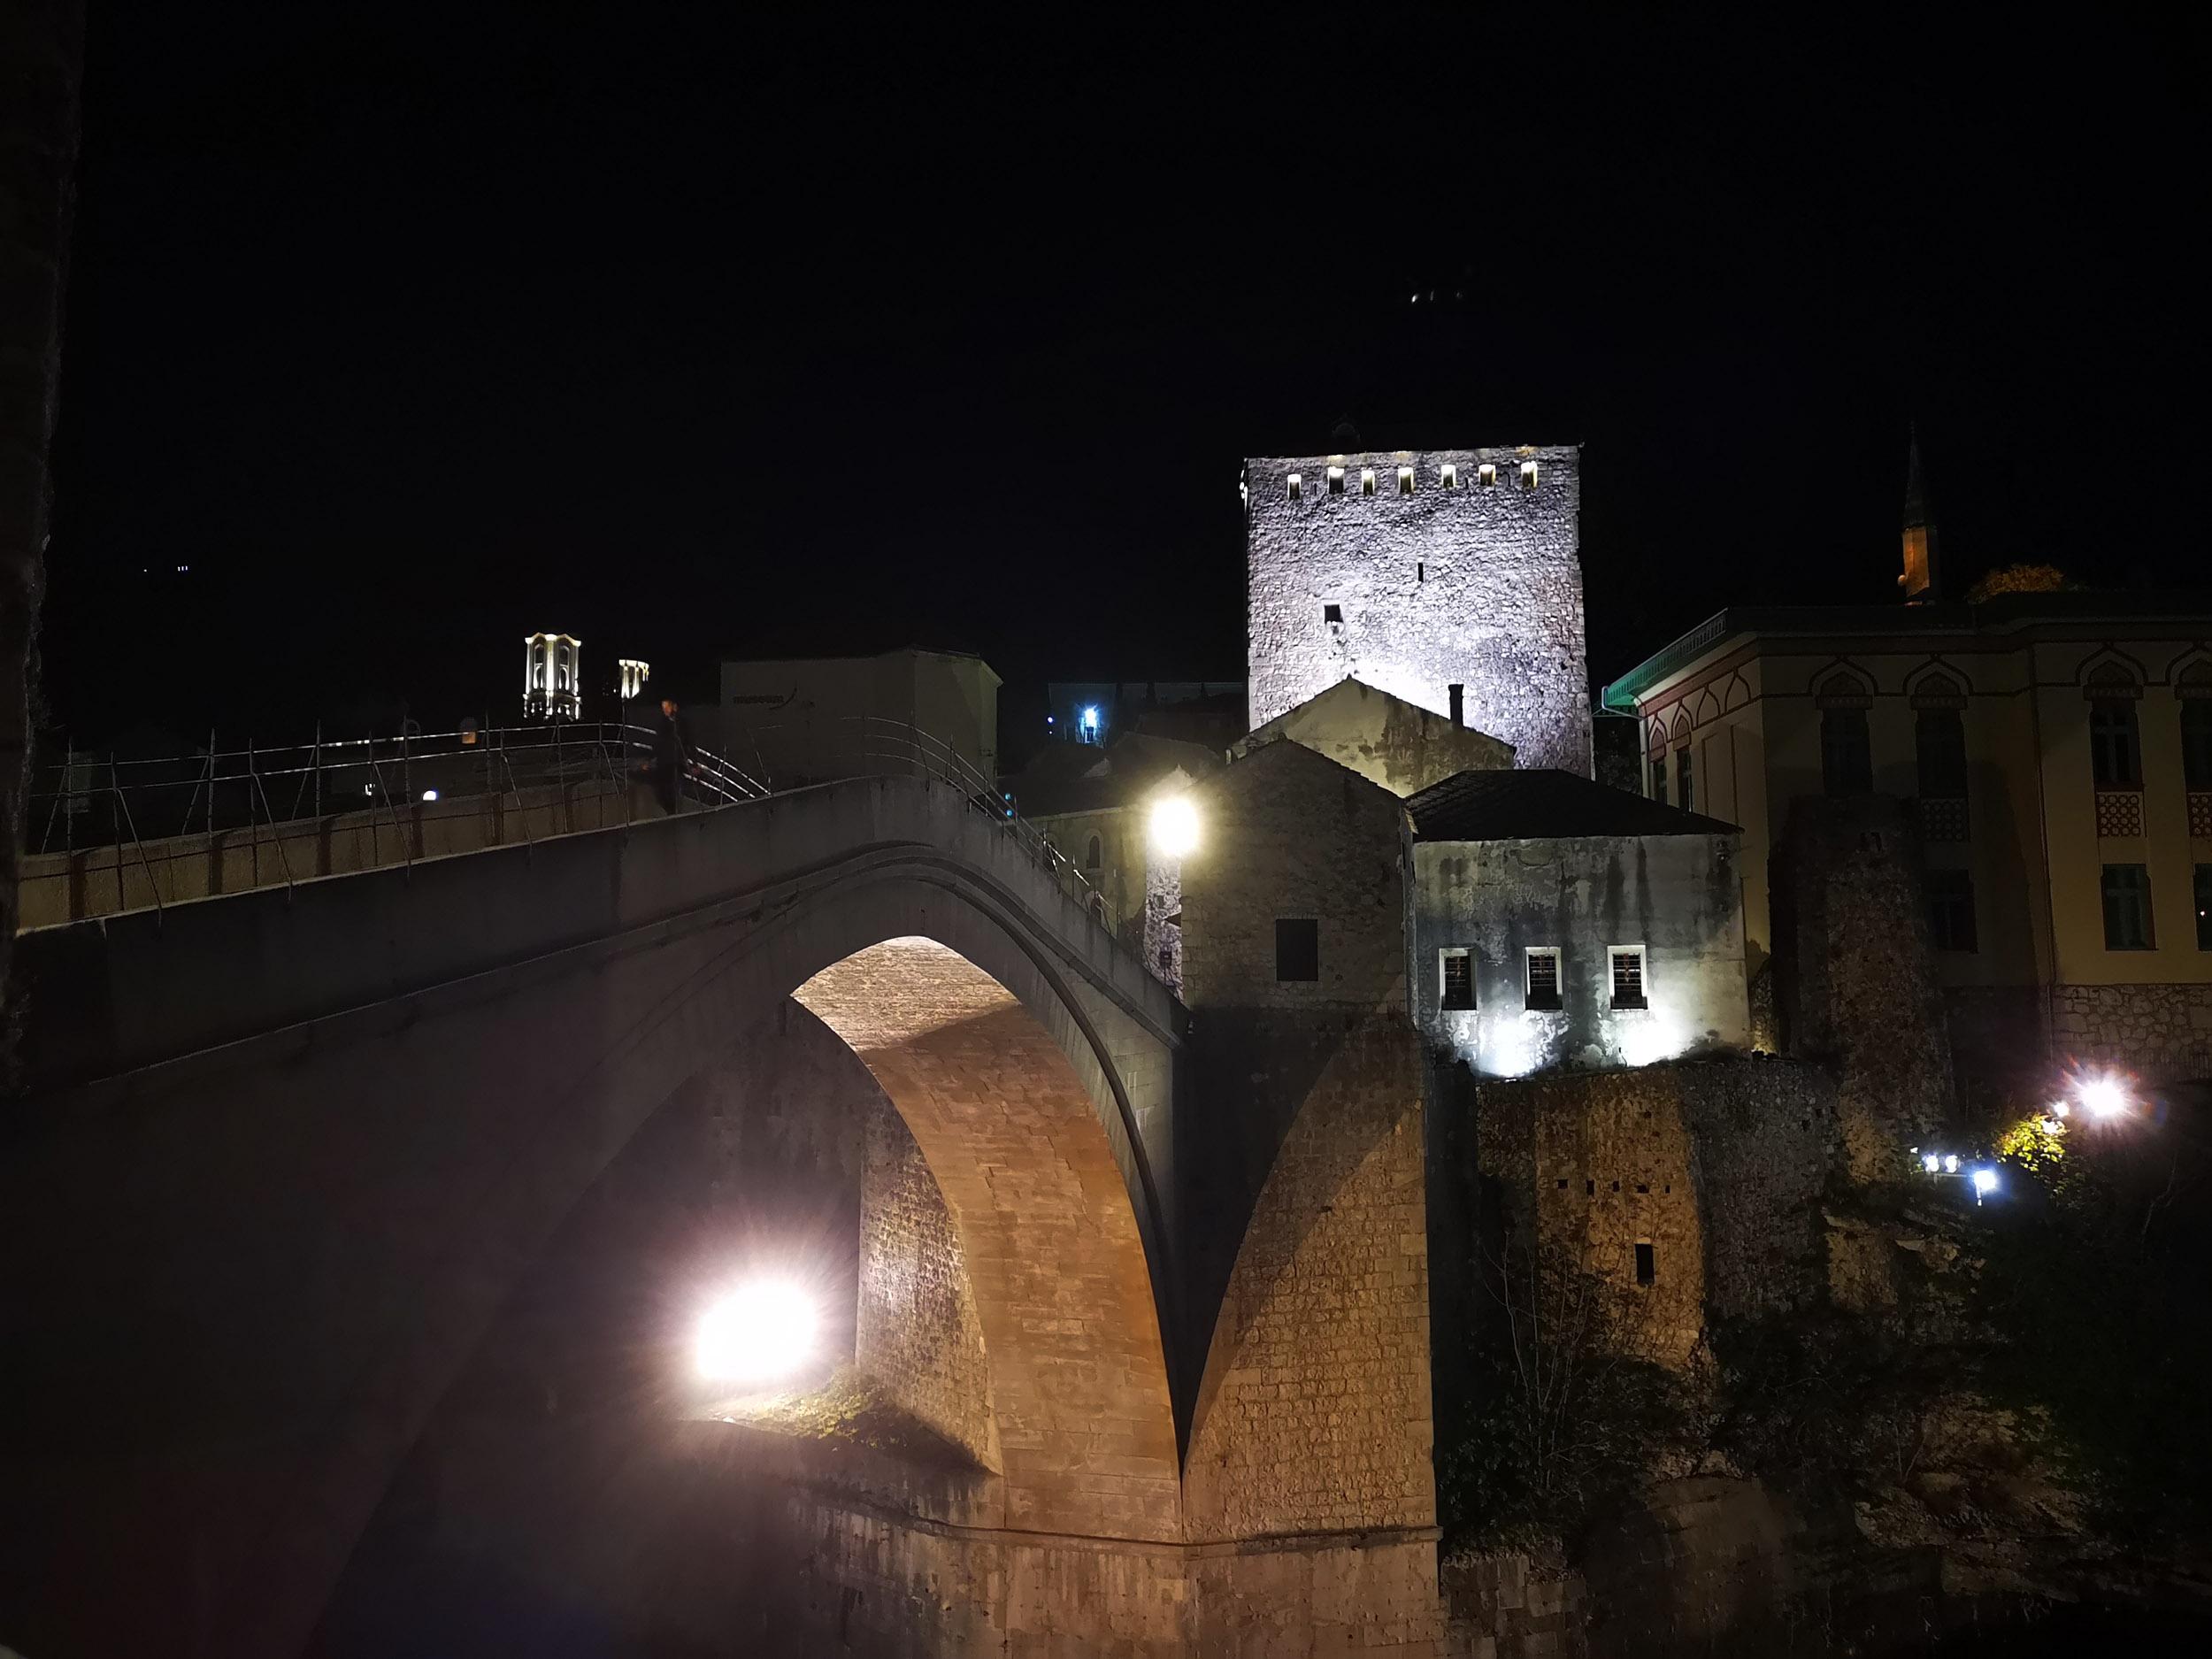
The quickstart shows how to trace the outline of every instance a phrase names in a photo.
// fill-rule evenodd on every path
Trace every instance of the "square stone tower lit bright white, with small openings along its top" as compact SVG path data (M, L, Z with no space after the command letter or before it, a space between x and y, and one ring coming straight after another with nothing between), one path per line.
M1252 726L1352 677L1590 776L1575 447L1245 460Z

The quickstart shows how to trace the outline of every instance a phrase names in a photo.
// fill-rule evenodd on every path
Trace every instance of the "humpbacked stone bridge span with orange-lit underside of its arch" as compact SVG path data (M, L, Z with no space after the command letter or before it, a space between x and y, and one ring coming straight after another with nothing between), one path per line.
M7 1274L31 1325L93 1378L64 1440L131 1409L142 1380L122 1360L148 1310L192 1303L197 1329L166 1356L166 1409L210 1451L241 1425L259 1447L248 1462L210 1455L190 1480L108 1460L117 1489L97 1506L131 1515L131 1537L84 1526L58 1540L75 1562L44 1559L82 1584L124 1571L153 1590L113 1608L146 1621L117 1646L197 1624L208 1652L296 1650L507 1290L646 1117L792 993L869 1064L960 1225L1000 1411L1002 1524L1177 1535L1155 1292L1168 1217L1148 1150L1168 1144L1150 1119L1166 1113L1170 1004L1086 956L1110 942L1079 905L947 796L872 779L549 843L526 869L476 854L46 942L46 991L73 991L88 1018L146 998L128 1022L139 1053L117 1046L126 1071L40 1102L0 1177L11 1212L49 1221L31 1237L71 1239L58 1197L102 1186L122 1223L93 1259L27 1252ZM487 951L529 931L500 931L515 900L502 887L549 880L599 905L599 927ZM372 883L383 891L365 894ZM319 929L358 942L363 914L407 947L307 987L338 1006L301 1006L285 964L327 953ZM239 1033L226 1002L195 1042L179 1006L195 964L241 940L232 993L259 1004L252 1024ZM414 984L347 1000L392 987L400 962ZM1015 1108L1022 1128L1006 1133ZM1108 1394L1121 1420L1102 1418ZM1113 1453L1110 1491L1095 1455L1077 1486L1075 1436ZM60 1482L82 1464L51 1471ZM197 1584L175 1582L181 1535L201 1540Z

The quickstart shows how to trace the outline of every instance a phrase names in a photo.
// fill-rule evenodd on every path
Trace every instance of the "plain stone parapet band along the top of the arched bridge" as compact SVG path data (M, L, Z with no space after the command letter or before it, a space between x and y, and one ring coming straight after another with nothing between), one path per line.
M1175 1042L1175 998L998 823L929 779L852 779L599 832L40 929L27 1066L60 1086L372 1006L708 907L772 916L807 878L933 863L1035 916L1117 1009L1117 1057ZM1124 1022L1108 1022L1121 1026ZM1104 1035L1104 1033L1102 1033ZM1159 1062L1155 1062L1155 1071Z

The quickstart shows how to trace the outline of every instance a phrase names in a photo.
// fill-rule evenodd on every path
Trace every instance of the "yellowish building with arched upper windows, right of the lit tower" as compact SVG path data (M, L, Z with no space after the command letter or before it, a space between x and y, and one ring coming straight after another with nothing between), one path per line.
M1916 467L1918 476L1918 467ZM1905 803L1962 1075L2212 1073L2212 602L1944 602L1918 489L1905 606L1723 611L1613 681L1644 787L1743 827L1745 947L1778 949L1792 810Z

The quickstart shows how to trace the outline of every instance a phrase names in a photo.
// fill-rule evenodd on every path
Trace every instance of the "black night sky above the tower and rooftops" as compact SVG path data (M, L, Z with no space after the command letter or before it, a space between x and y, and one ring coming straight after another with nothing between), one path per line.
M1599 679L1893 595L1913 418L1953 586L2203 560L2170 24L699 11L93 0L53 728L509 719L533 628L1234 677L1239 460L1347 416L1586 445Z

